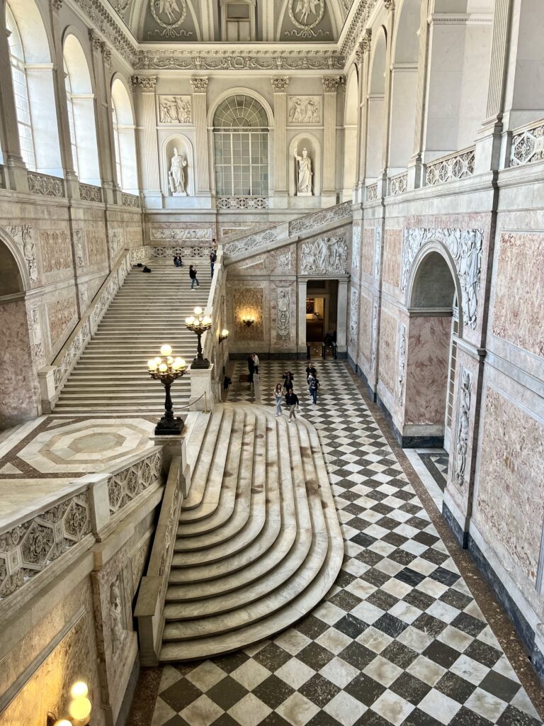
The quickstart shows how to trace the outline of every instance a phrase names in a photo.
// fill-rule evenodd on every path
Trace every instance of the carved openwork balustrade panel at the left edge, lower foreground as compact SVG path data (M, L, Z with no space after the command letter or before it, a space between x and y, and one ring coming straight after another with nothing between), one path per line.
M43 572L90 531L88 497L81 492L0 534L0 600Z

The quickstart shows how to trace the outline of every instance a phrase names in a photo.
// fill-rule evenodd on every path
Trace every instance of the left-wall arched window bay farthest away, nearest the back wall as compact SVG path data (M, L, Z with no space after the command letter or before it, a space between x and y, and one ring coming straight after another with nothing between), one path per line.
M139 193L136 139L131 99L123 81L112 83L112 126L117 183L123 192Z

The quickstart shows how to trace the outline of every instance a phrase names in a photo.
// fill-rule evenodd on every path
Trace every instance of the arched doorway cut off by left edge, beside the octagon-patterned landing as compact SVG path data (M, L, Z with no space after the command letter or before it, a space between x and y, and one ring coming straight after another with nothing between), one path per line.
M3 431L38 415L38 386L25 304L25 276L17 258L2 240L0 269L0 431Z

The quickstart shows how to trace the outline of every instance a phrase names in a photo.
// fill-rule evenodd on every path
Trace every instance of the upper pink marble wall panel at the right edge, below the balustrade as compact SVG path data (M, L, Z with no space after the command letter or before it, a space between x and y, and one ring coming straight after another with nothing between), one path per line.
M500 235L493 335L544 357L544 234Z

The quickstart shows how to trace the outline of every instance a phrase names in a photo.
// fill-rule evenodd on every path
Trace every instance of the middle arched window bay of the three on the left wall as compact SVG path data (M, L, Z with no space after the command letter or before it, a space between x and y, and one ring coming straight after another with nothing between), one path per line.
M63 57L74 169L80 181L100 186L93 84L83 46L73 33L65 37Z

